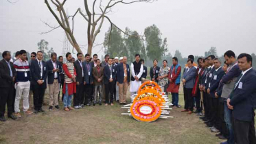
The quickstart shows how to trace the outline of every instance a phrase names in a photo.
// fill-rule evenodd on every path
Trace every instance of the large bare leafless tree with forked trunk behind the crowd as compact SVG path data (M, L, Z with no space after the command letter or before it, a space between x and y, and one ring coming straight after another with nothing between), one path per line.
M54 4L56 6L56 12L51 8L51 4ZM100 33L100 29L102 28L102 25L104 23L104 20L107 20L110 23L110 26L117 27L111 21L110 17L108 17L108 13L111 12L111 9L118 4L124 4L124 5L129 5L132 3L139 3L139 2L153 2L154 0L108 0L106 5L104 6L102 4L102 0L93 0L93 3L91 6L89 6L88 1L89 0L84 0L84 9L85 9L85 14L82 12L81 8L78 8L78 10L75 11L75 14L68 16L67 13L65 12L64 5L67 0L63 0L60 2L60 0L45 0L45 3L47 5L47 8L51 12L51 14L54 15L54 18L60 25L59 27L62 27L62 29L65 30L65 34L67 35L67 38L71 45L76 49L76 51L81 52L80 46L78 45L78 42L75 40L75 36L73 34L73 24L74 24L74 18L75 16L79 13L84 20L88 23L87 25L87 42L88 42L88 49L87 53L91 54L92 49L93 49L93 44L95 43L95 39L97 35ZM96 12L98 10L98 12ZM69 19L72 20L72 23L69 22ZM49 24L45 23L47 26L51 27ZM57 29L58 27L51 27L51 32L54 29ZM122 29L117 27L121 32L126 34Z

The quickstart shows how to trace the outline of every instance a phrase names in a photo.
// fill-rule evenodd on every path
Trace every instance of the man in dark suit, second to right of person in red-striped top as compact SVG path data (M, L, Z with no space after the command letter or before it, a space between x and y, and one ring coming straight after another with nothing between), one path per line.
M91 106L93 73L92 73L92 67L90 64L90 55L88 53L85 55L85 61L82 62L82 67L84 71L84 92L85 92L85 97L82 97L82 102L84 102L84 105Z

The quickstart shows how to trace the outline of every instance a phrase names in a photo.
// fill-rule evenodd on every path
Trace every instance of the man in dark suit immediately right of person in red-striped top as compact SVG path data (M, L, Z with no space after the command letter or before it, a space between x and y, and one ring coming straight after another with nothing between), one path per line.
M75 109L82 108L84 103L82 103L82 97L84 95L84 69L82 67L82 53L78 53L78 60L75 60L74 67L76 72L76 93L73 97L73 106Z

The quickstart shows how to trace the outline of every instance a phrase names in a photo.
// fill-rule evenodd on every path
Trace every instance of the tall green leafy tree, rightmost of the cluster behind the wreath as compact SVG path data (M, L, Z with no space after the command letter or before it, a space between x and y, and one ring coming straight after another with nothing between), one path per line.
M146 37L146 51L151 60L161 60L167 51L167 38L162 40L161 32L156 25L146 27L144 35Z

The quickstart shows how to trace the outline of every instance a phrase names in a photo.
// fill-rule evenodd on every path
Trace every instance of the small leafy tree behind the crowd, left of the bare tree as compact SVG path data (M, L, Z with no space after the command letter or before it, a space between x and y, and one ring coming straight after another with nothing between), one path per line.
M43 52L43 60L49 60L51 58L51 53L54 52L54 48L48 47L49 43L46 40L40 40L37 43L38 49Z

